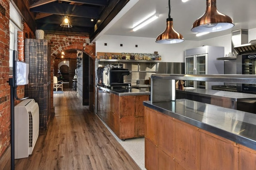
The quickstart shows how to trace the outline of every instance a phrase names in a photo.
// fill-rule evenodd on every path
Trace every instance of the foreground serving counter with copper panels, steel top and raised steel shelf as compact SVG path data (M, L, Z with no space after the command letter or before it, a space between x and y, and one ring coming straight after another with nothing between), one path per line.
M256 115L176 99L176 80L256 84L255 75L152 75L152 100L143 102L147 170L256 169Z

